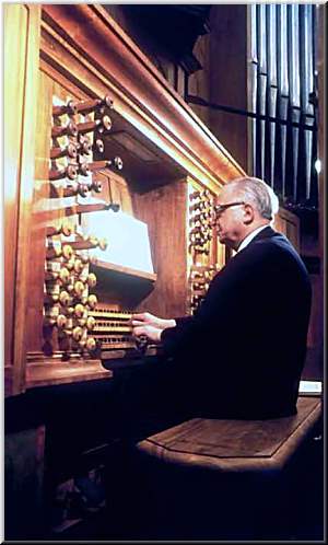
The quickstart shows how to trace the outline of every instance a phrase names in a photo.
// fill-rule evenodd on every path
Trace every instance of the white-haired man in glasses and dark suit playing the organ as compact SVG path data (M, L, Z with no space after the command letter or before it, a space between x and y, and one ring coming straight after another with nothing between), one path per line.
M132 315L136 338L161 344L164 356L144 383L140 379L130 408L148 399L148 410L161 403L169 414L293 415L306 355L308 274L290 241L271 227L279 204L263 181L235 179L219 201L218 236L235 254L192 316Z

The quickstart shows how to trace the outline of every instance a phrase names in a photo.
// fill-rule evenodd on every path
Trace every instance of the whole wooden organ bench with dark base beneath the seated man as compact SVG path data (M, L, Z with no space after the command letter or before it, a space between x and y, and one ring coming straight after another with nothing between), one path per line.
M293 517L302 518L297 500L306 490L297 490L311 469L302 451L317 439L320 413L320 399L304 396L294 416L194 418L139 442L137 471L152 534L145 537L242 540L288 533Z

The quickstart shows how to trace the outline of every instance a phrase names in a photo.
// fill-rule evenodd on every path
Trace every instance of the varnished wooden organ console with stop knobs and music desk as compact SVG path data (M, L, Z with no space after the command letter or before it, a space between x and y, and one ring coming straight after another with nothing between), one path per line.
M194 312L225 260L211 207L244 171L101 5L8 4L4 15L13 395L108 378L104 360L153 353L136 346L130 313ZM147 225L153 270L102 257L122 235L115 214ZM132 224L129 234L132 252Z

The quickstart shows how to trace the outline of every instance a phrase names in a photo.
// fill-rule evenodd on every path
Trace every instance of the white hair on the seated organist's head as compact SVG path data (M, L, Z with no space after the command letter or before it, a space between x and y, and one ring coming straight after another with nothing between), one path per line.
M279 210L279 199L266 182L256 177L242 177L230 182L229 187L237 190L239 197L253 205L262 218L272 220Z

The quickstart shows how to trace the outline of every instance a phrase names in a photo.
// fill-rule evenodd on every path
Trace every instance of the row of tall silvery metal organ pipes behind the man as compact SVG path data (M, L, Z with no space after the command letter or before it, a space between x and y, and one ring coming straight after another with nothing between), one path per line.
M253 136L249 148L253 174L267 176L282 200L292 198L296 206L301 199L314 196L311 186L316 138L314 11L313 4L249 7L247 114Z

